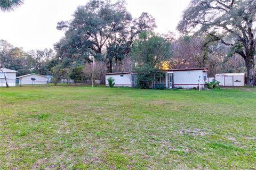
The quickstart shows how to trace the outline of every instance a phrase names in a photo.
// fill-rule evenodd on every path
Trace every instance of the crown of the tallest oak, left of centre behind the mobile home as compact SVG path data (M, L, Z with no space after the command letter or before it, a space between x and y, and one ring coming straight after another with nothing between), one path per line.
M102 60L109 42L132 20L124 1L91 0L77 7L71 22L61 21L57 29L66 29L66 36L55 45L57 55L72 61L92 62L91 56Z

